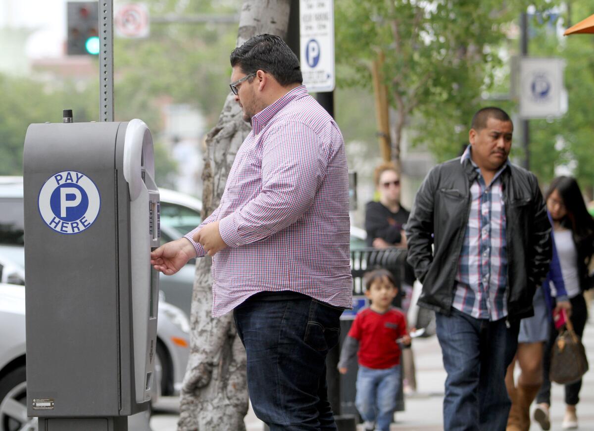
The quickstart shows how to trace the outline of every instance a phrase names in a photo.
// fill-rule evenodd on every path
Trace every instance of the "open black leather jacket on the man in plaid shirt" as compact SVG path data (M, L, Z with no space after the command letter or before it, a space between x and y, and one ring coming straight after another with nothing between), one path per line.
M406 223L407 261L423 283L419 306L449 315L454 278L470 214L470 185L478 172L460 158L435 166ZM533 315L532 299L549 270L551 224L536 177L510 164L501 172L507 239L509 319ZM431 245L434 245L432 251Z

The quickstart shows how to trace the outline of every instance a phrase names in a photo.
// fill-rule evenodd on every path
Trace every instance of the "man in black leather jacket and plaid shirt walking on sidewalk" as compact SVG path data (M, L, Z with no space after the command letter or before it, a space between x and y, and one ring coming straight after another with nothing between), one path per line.
M437 312L448 431L505 430L505 370L551 259L538 181L508 161L512 134L503 110L479 110L469 147L429 172L406 224L418 304Z

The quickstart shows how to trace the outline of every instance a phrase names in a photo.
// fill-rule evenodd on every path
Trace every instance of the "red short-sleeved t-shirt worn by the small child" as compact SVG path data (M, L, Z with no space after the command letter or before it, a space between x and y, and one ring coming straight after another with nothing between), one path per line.
M396 309L380 314L371 308L357 313L349 337L359 341L359 364L375 369L400 364L396 340L407 334L405 315Z

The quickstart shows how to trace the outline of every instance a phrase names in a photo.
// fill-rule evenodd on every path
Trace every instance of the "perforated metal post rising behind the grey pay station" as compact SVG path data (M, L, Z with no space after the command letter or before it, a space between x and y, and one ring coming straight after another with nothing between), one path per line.
M113 0L99 0L99 121L113 121Z

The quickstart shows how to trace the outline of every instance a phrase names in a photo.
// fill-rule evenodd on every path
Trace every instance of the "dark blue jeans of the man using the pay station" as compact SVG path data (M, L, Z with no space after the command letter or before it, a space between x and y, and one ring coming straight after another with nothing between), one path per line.
M248 299L233 316L248 358L254 412L270 431L336 431L326 355L340 335L342 309L303 299Z

